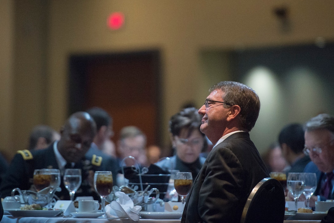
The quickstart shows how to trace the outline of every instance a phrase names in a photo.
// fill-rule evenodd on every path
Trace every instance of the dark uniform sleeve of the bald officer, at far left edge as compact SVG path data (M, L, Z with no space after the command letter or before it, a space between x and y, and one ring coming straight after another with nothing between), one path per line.
M21 190L28 190L30 188L27 163L21 154L14 156L1 182L1 197L11 196L11 191L17 187Z

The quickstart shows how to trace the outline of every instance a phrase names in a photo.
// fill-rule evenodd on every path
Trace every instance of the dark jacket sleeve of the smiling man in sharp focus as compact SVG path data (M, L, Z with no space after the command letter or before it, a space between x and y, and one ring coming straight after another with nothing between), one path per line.
M208 157L206 177L199 192L198 213L204 222L234 222L239 200L244 196L244 172L239 160L227 148L217 148Z

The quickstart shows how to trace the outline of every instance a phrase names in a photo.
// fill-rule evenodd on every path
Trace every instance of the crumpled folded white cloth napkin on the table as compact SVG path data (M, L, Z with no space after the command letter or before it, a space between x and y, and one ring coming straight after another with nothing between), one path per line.
M138 221L138 212L142 210L142 206L134 206L131 198L124 192L117 191L115 195L118 197L116 201L112 201L110 204L106 205L107 218L130 218L133 221Z

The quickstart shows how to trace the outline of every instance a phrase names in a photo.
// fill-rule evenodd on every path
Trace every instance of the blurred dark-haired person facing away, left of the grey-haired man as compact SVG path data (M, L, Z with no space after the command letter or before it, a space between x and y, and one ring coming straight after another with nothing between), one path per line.
M303 126L298 123L286 125L281 130L278 141L282 149L283 157L290 165L290 168L287 169L286 172L303 172L306 164L311 161L310 157L303 152L305 147Z

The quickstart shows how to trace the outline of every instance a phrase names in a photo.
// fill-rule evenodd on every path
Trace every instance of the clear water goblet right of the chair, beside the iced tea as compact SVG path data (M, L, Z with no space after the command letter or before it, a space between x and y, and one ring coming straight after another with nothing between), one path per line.
M297 212L298 198L303 193L305 188L305 174L288 173L287 185L289 192L295 199L295 211Z

